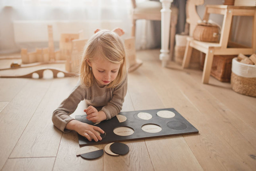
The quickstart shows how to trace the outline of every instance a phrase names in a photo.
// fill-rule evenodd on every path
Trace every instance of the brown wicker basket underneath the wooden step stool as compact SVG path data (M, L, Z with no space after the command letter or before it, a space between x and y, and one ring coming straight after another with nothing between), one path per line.
M214 55L211 75L221 82L230 82L232 59L237 55ZM200 60L200 69L204 68L204 58Z

